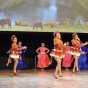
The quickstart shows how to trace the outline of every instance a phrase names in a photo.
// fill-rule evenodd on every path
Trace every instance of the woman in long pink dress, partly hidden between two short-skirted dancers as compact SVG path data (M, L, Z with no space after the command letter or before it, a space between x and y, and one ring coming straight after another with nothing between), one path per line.
M66 70L68 70L68 68L71 67L72 63L71 47L69 46L69 42L66 42L64 45L66 46L66 52L65 57L63 58L62 65Z

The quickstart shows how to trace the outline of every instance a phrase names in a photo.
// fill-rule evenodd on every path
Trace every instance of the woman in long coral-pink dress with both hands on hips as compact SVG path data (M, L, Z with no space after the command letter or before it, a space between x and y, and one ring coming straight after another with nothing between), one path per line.
M45 43L41 43L41 47L39 47L36 52L38 53L37 67L44 70L44 68L48 67L50 64L50 60L47 55L47 53L49 53L49 49L45 47Z

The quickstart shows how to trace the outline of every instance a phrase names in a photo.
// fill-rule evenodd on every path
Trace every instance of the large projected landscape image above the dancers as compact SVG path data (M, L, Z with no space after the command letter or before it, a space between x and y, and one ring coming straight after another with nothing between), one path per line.
M0 31L88 32L88 0L0 0Z

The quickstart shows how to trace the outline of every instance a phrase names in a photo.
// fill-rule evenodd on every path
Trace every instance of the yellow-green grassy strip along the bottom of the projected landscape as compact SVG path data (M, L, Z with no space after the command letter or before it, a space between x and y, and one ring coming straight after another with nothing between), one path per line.
M66 33L88 33L88 25L76 25L76 26L69 26L69 25L58 25L58 27L37 27L33 29L33 27L27 26L12 26L12 27L3 27L0 28L0 31L20 31L20 32L66 32Z

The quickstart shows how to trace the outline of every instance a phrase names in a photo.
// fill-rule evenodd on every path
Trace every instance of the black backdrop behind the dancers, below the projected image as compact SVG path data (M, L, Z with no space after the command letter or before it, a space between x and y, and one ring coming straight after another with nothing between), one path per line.
M24 63L26 64L23 69L31 69L35 67L35 50L40 46L41 42L46 43L46 47L50 50L53 48L53 33L52 32L0 32L0 69L12 69L13 63L7 68L6 62L8 60L8 54L6 53L10 48L10 37L15 34L18 37L18 41L22 41L23 45L26 45L28 49L23 54ZM80 39L85 42L88 41L87 33L78 33ZM61 33L62 40L64 42L69 41L71 44L72 33ZM54 68L56 65L53 61L49 68ZM20 69L20 68L19 68Z

